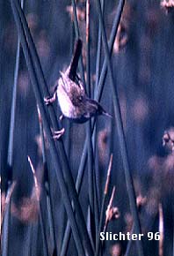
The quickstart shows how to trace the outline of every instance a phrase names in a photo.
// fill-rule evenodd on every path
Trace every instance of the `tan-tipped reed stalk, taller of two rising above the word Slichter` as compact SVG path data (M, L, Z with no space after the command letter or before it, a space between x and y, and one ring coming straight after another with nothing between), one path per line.
M98 228L98 239L97 239L97 243L96 243L95 256L98 256L98 253L99 253L99 246L100 246L100 240L99 240L100 236L99 236L99 234L102 230L102 226L103 226L103 222L104 222L105 201L107 199L107 193L108 193L108 189L109 189L111 169L112 169L112 154L111 154L111 157L110 157L109 166L108 166L108 169L107 169L107 177L106 177L106 180L105 180L105 191L104 191L104 195L103 195L103 199L102 199L102 205L101 205L101 213L100 213L99 228Z

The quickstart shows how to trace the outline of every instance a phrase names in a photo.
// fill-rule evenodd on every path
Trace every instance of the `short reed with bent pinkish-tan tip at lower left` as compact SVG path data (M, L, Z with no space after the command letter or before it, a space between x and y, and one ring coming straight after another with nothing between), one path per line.
M35 187L35 194L36 194L36 199L39 207L39 216L40 216L40 227L41 227L41 236L42 236L42 242L43 242L43 252L44 256L48 256L48 247L47 247L47 235L46 235L46 227L45 227L45 222L44 222L44 217L43 217L43 209L41 207L40 203L40 187L37 181L36 177L36 172L33 167L33 162L31 161L30 156L28 156L28 162L30 164L30 167L33 172L33 180L34 180L34 187Z

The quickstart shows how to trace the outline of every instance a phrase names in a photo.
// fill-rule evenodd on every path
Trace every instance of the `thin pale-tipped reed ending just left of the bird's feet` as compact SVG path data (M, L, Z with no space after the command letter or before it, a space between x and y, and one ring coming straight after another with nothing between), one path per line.
M47 212L50 216L49 227L50 227L50 231L51 231L51 235L54 243L54 251L57 255L56 236L55 236L55 230L54 230L54 209L53 209L50 182L49 182L48 170L47 170L46 145L45 145L45 139L44 139L43 124L42 124L40 109L38 105L37 105L37 109L38 109L38 118L39 118L39 124L40 124L41 151L42 151L42 161L43 161L43 169L44 169L44 187L47 193Z

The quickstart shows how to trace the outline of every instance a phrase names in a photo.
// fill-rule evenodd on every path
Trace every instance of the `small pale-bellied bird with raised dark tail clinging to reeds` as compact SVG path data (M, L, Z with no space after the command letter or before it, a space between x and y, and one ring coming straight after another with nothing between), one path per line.
M81 52L82 41L78 39L68 69L66 72L60 72L61 78L57 81L54 96L45 99L46 104L50 104L56 100L57 96L62 116L79 124L99 115L111 117L98 102L85 94L83 82L76 72Z

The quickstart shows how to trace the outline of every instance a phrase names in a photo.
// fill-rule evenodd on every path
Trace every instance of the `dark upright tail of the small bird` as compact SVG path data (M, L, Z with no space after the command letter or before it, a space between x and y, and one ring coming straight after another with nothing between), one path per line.
M73 81L75 81L75 79L76 79L76 69L77 69L77 66L78 66L79 57L82 53L82 46L83 46L82 40L78 39L76 41L74 55L72 57L71 64L70 64L70 67L69 67L69 79L71 79Z

